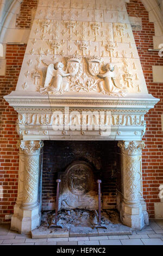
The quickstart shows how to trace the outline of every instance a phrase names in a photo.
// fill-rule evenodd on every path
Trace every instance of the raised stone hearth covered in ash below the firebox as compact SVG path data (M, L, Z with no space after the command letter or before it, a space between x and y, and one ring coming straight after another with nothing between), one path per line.
M47 228L48 223L54 221L55 212L46 211L42 215L42 223L39 228L32 231L33 238L49 237L78 237L78 236L103 236L103 235L131 235L131 228L120 222L120 216L116 210L102 211L102 225L106 229L93 229L98 223L97 211L90 210L60 210L58 224L64 228Z

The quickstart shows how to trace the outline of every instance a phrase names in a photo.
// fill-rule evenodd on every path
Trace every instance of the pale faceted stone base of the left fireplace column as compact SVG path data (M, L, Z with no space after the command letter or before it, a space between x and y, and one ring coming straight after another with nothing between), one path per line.
M20 205L14 206L14 215L11 218L11 230L16 230L18 233L29 233L41 224L41 214L39 205L35 209L24 210Z

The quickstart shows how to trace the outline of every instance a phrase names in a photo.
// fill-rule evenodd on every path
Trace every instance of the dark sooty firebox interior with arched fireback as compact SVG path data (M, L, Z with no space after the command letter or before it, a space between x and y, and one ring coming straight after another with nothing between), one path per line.
M59 208L98 209L97 179L102 180L102 208L116 209L117 143L45 141L42 210L55 209L56 182L61 179Z

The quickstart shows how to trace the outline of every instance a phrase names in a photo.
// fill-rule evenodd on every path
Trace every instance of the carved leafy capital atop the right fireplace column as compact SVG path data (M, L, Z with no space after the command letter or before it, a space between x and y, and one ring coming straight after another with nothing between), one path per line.
M122 153L127 155L140 155L142 149L145 148L144 141L120 141L118 147L122 149Z

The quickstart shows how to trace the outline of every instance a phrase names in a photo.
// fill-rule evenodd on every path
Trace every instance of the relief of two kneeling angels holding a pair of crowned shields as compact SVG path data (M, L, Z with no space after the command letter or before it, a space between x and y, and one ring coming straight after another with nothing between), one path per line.
M62 63L50 64L46 60L42 62L48 65L45 84L40 88L43 94L53 95L64 92L96 92L114 96L126 94L127 86L123 84L117 65L102 64L101 57L82 58L78 54L73 54L66 57ZM66 65L65 70L63 63Z

